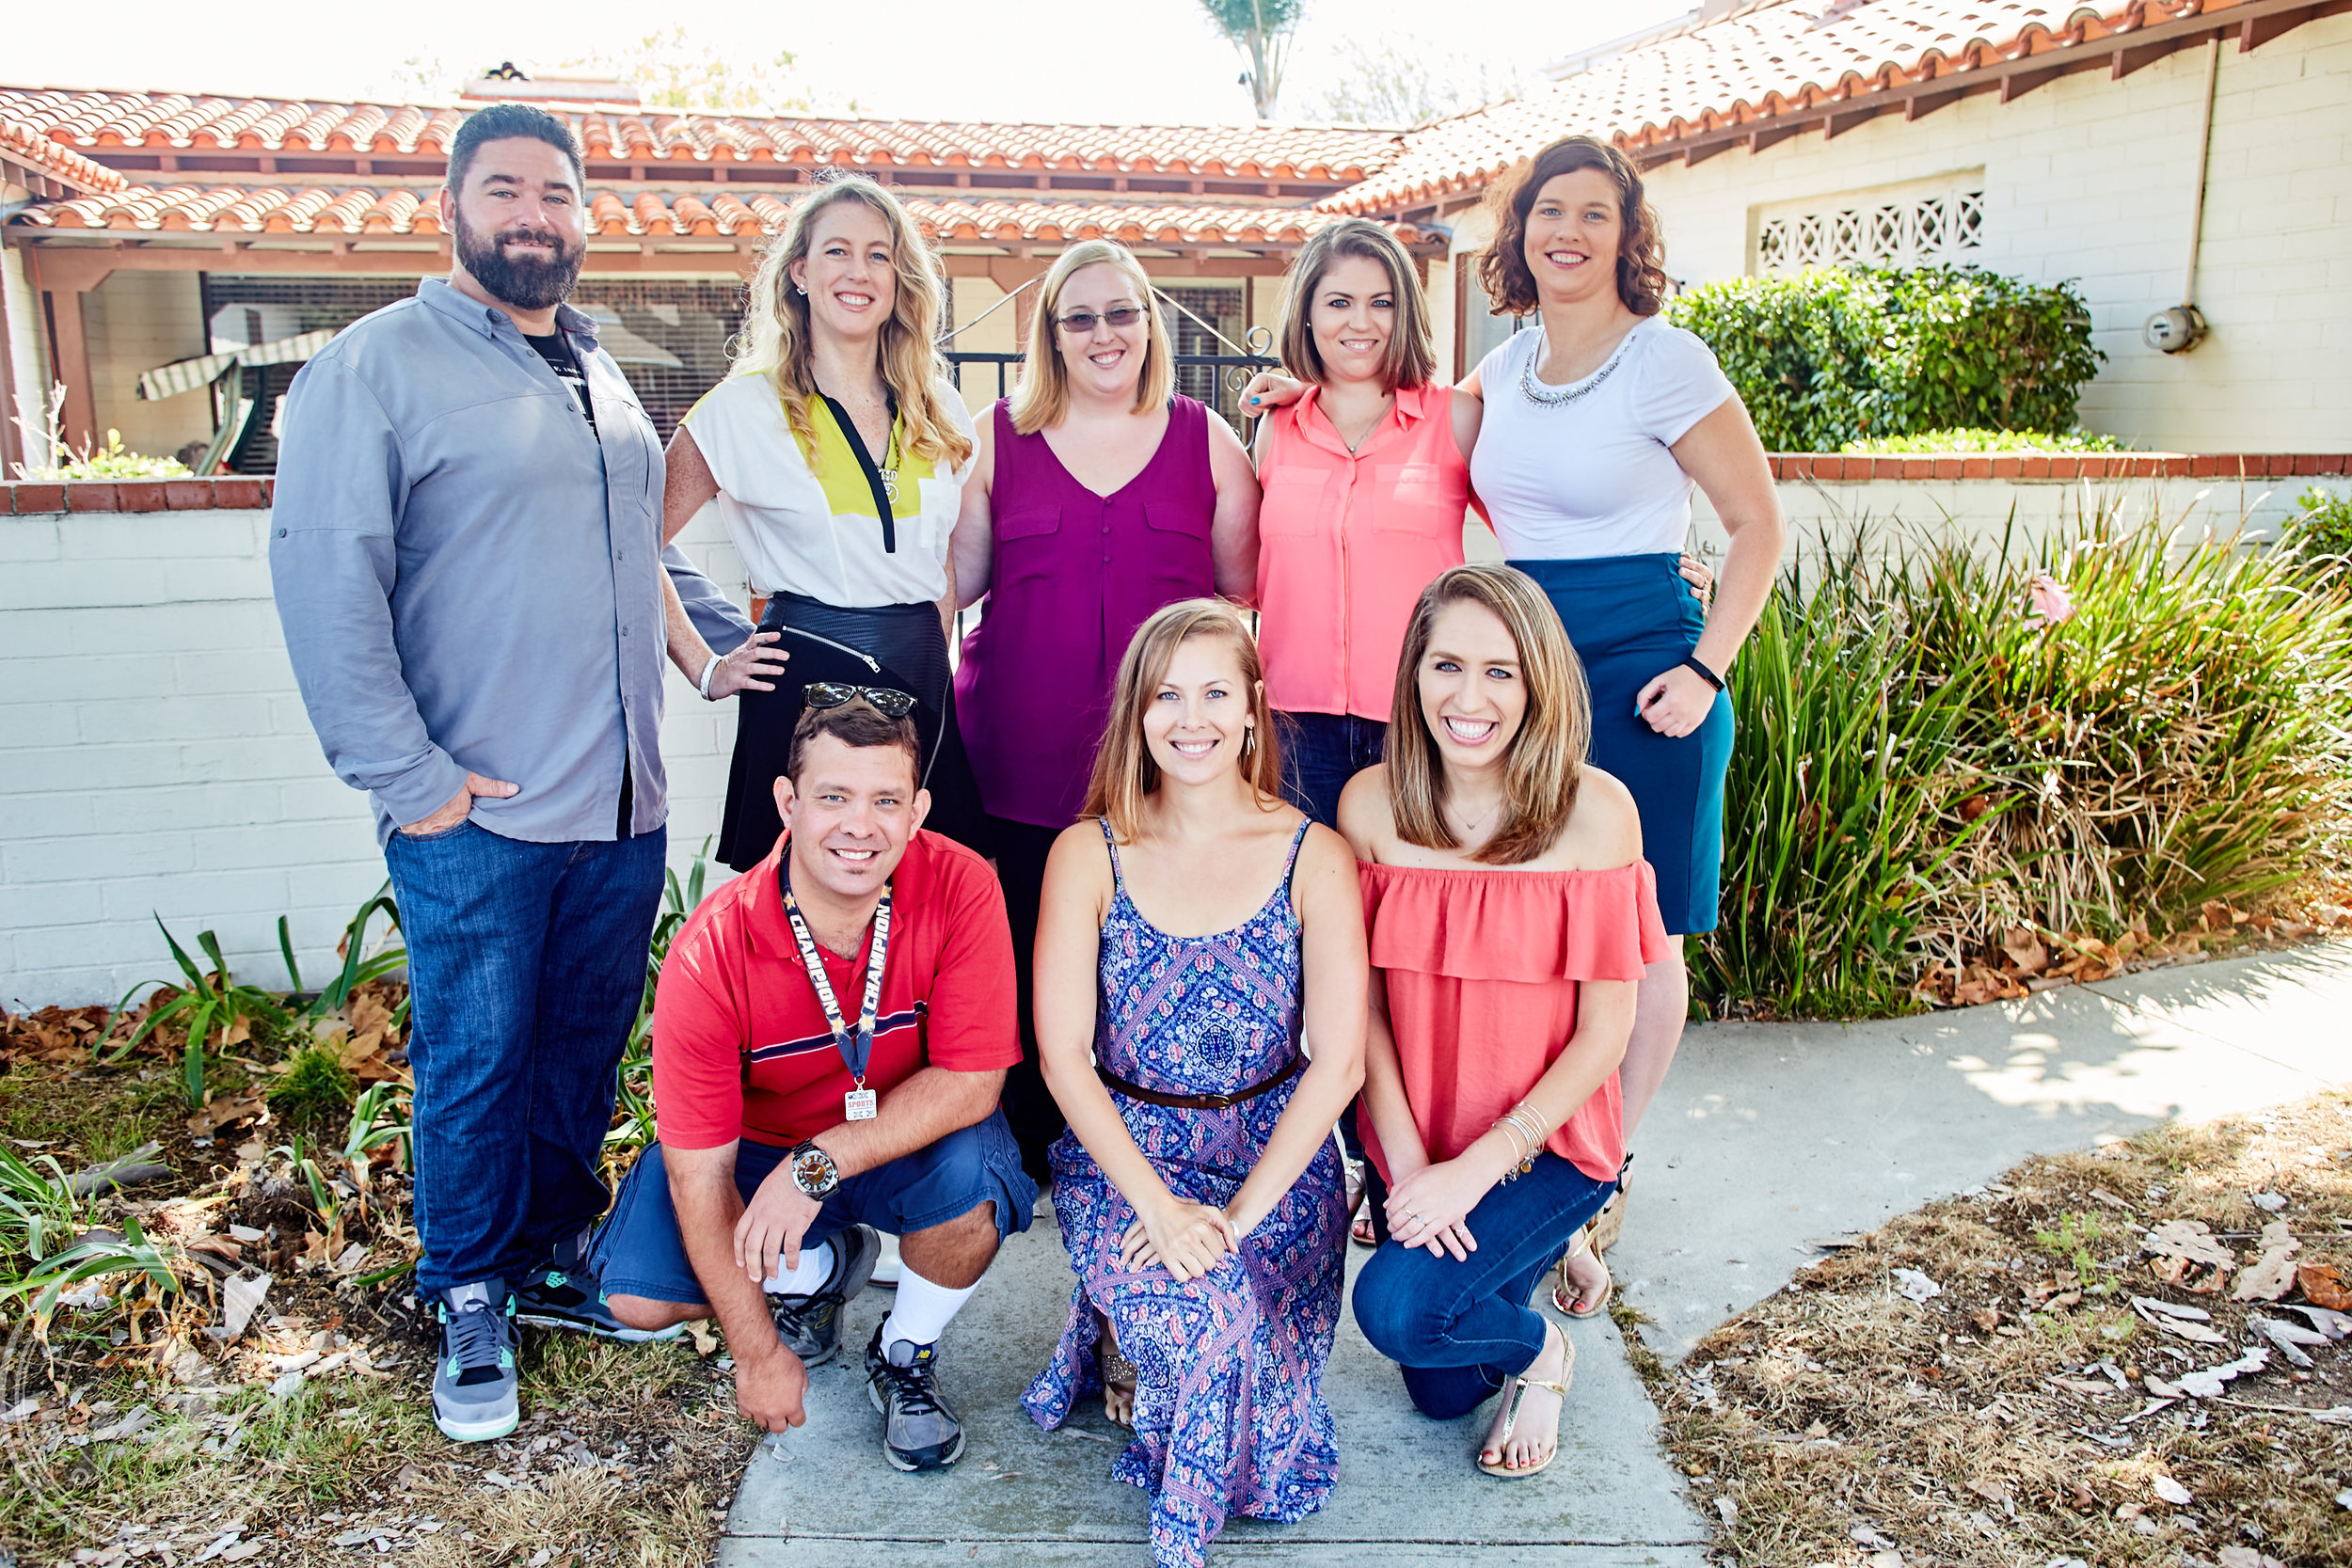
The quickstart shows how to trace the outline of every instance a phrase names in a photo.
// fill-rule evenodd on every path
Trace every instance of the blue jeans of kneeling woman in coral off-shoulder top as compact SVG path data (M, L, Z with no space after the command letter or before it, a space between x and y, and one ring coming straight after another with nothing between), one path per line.
M1414 1406L1454 1420L1534 1366L1543 1314L1526 1298L1616 1180L1597 1182L1557 1154L1538 1154L1534 1171L1496 1182L1477 1201L1468 1220L1477 1251L1456 1262L1392 1241L1381 1173L1367 1178L1381 1248L1355 1276L1355 1321L1374 1349L1399 1363Z

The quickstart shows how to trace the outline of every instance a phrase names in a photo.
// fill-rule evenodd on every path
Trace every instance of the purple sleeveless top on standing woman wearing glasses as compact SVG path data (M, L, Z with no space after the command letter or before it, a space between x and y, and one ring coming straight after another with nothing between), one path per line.
M964 637L955 717L990 816L1068 827L1087 802L1120 656L1150 614L1216 592L1209 409L1169 407L1160 451L1115 496L995 407L995 569Z

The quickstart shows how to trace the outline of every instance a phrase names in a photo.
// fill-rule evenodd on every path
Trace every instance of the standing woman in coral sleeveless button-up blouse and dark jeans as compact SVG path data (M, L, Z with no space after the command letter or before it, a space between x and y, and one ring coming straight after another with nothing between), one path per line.
M1414 599L1463 564L1479 404L1432 386L1411 259L1345 219L1291 266L1282 362L1308 393L1258 425L1258 649L1291 802L1329 825L1381 759Z

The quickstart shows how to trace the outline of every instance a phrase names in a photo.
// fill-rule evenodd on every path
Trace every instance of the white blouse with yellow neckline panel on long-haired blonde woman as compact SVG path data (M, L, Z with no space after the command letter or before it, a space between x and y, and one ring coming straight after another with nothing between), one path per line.
M941 381L938 402L969 437L964 395ZM830 416L821 402L811 418L823 437ZM931 604L948 592L948 536L974 458L955 473L934 473L929 461L901 454L898 503L891 508L898 548L884 550L873 491L856 458L837 440L828 442L828 468L818 477L783 418L771 376L720 381L682 423L720 484L708 505L720 508L753 592L797 592L842 609ZM884 456L873 454L875 463Z

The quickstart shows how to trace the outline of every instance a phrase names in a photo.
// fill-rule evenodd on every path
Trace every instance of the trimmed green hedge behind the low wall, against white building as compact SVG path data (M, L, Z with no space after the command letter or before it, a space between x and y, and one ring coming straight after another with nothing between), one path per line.
M1729 277L1665 315L1722 360L1771 451L1929 430L2072 430L2105 355L2072 284L1976 268Z

